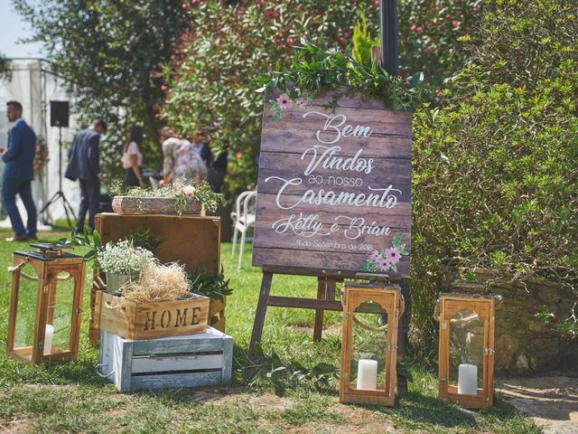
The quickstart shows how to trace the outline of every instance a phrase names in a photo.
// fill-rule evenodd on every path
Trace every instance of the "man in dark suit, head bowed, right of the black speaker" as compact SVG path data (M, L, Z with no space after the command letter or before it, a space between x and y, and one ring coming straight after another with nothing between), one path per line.
M84 218L89 212L90 231L94 231L94 216L98 212L100 195L100 135L107 131L107 123L98 119L91 127L79 131L72 140L69 165L64 174L80 182L79 221L75 231L84 230Z

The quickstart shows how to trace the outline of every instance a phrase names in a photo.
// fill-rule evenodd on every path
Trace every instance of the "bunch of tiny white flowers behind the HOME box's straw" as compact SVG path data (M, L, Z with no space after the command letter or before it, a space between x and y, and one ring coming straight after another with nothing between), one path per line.
M134 247L131 241L108 242L98 250L98 266L106 273L135 276L154 261L153 252Z

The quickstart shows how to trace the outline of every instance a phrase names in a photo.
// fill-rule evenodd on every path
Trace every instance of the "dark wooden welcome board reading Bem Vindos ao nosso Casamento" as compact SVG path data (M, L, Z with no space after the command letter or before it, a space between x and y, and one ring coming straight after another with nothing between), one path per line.
M267 95L253 265L409 277L411 119L342 89Z

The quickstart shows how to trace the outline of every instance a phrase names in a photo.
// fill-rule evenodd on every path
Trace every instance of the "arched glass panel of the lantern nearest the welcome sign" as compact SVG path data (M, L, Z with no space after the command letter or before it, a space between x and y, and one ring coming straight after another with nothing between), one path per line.
M361 303L353 316L350 387L385 391L387 313L375 301Z

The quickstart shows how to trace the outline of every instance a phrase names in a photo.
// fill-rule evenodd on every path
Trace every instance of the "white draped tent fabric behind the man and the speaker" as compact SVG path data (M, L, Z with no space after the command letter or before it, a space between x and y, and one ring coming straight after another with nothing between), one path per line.
M33 181L33 198L39 212L59 189L59 128L50 126L50 101L70 100L65 82L51 72L50 66L48 61L41 59L14 59L11 61L11 80L0 80L0 146L6 146L8 132L12 127L5 114L6 101L11 99L23 105L24 120L33 127L36 136L43 137L48 145L48 165L42 171L36 171ZM65 146L62 149L62 172L68 162L67 144L77 129L74 117L71 117L69 122L70 127L62 128L62 142ZM0 172L3 171L4 163L0 162ZM63 178L62 191L74 212L77 212L80 196L78 183ZM19 202L18 207L25 224L23 204ZM39 222L54 222L65 217L64 206L59 199L44 212Z

